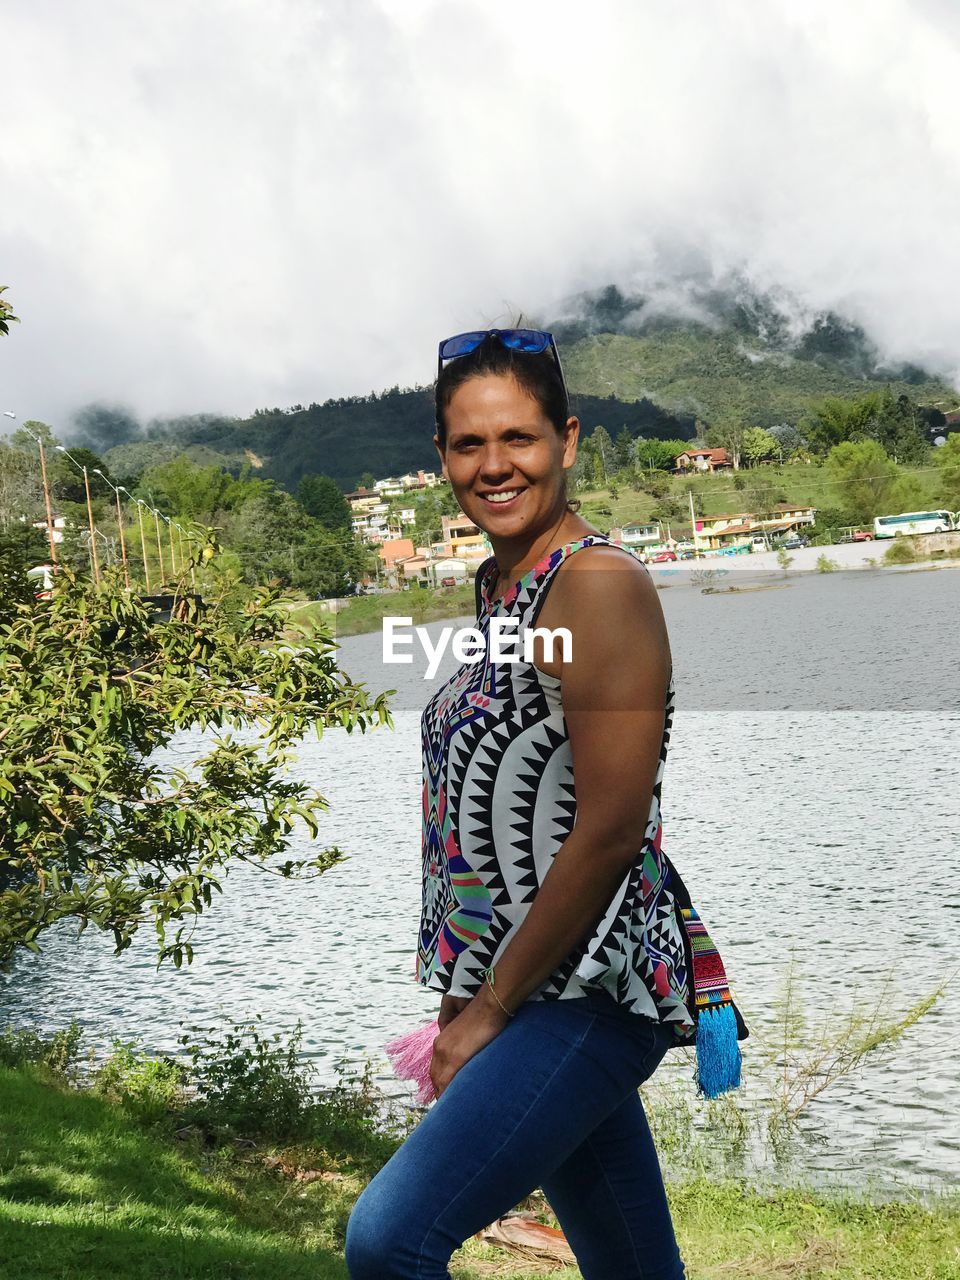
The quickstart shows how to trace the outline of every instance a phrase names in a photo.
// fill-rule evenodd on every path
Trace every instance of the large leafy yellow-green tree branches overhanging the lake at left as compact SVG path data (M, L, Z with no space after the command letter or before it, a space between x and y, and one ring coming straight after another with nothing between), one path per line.
M287 856L325 808L287 765L311 728L389 723L384 696L339 669L328 634L284 643L278 589L173 600L164 620L116 573L95 588L69 570L50 600L0 599L0 961L58 920L118 951L148 920L179 965L233 861L291 877L339 858ZM212 741L164 769L152 754L188 728Z

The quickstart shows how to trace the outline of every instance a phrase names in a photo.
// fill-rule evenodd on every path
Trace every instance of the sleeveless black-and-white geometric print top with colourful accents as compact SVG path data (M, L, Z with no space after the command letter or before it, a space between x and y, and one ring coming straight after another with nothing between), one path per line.
M422 915L416 975L425 987L472 996L524 920L543 877L573 829L576 794L561 681L527 662L492 662L492 617L532 627L559 566L602 535L545 556L499 600L497 562L480 567L476 630L485 653L433 695L421 718ZM632 556L627 548L618 548ZM634 557L636 558L636 557ZM640 562L643 563L643 562ZM507 634L509 635L509 632ZM504 643L500 640L500 650ZM521 654L517 643L513 652ZM672 1023L678 1042L695 1030L690 965L671 868L660 852L660 787L673 719L667 701L653 799L636 859L607 913L534 992L566 1000L605 988L636 1014Z

